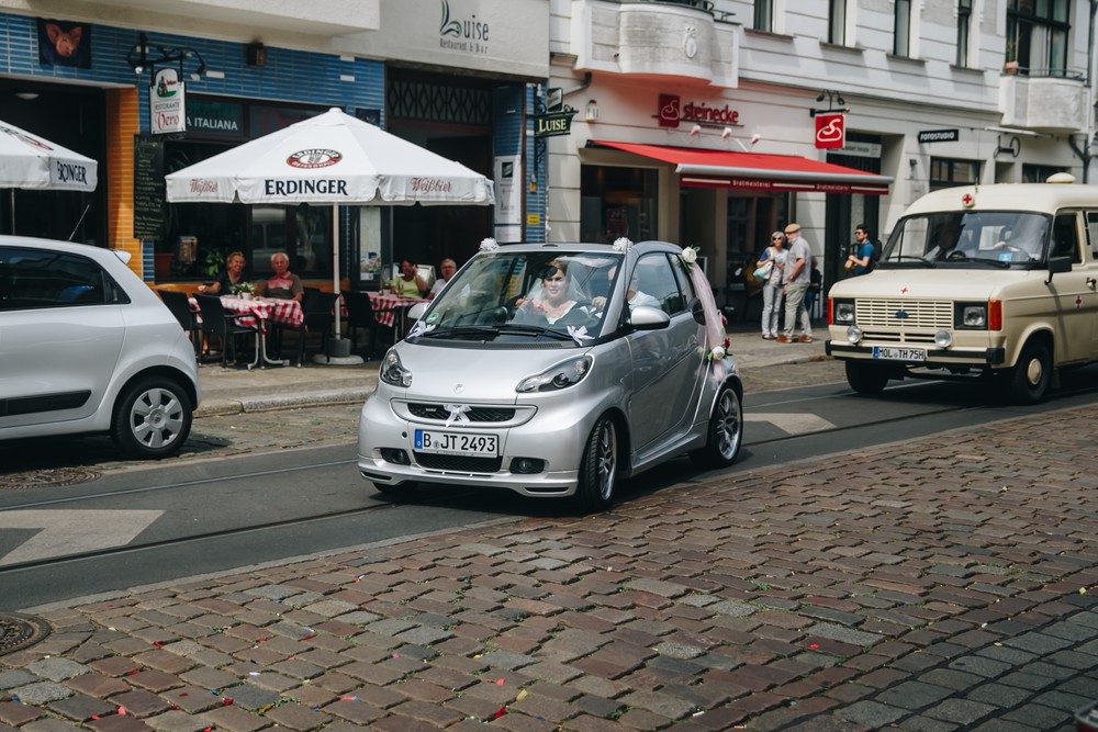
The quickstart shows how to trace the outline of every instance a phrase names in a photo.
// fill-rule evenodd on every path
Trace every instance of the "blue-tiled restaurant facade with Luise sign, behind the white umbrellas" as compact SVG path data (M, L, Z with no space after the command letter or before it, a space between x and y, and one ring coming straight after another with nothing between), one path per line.
M337 106L489 176L501 198L344 212L348 285L405 258L461 262L488 236L536 239L548 29L547 0L93 0L63 18L0 0L0 121L99 161L93 193L4 191L0 230L128 250L156 284L209 280L235 250L257 275L287 251L330 283L329 207L169 204L164 176ZM182 90L182 109L166 113L158 86Z

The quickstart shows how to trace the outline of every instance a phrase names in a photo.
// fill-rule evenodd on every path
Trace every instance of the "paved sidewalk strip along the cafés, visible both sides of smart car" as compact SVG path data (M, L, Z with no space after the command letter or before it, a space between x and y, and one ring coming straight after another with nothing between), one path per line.
M738 324L729 331L730 350L740 371L827 358L824 354L827 329L816 326L815 333L817 339L813 344L778 344L763 340L758 328ZM373 391L378 365L378 359L360 365L310 361L300 369L251 371L223 369L220 363L203 364L199 369L202 404L198 416L362 402Z

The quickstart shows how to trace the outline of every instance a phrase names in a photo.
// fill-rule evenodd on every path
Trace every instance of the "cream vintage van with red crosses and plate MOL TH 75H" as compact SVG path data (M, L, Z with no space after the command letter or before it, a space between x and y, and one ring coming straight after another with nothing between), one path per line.
M1032 404L1054 369L1098 360L1098 185L1074 183L1058 173L911 204L876 269L828 293L827 352L851 388L983 375Z

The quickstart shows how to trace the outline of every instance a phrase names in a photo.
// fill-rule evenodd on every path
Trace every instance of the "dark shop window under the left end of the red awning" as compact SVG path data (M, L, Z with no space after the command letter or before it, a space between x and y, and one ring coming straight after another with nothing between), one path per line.
M647 168L583 166L580 236L584 241L654 239L659 174Z

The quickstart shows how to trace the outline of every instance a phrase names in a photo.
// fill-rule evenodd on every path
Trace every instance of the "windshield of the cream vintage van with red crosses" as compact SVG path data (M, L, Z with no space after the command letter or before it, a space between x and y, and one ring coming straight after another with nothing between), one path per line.
M1045 214L951 211L908 216L888 237L883 264L1040 267L1046 261Z

